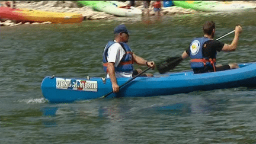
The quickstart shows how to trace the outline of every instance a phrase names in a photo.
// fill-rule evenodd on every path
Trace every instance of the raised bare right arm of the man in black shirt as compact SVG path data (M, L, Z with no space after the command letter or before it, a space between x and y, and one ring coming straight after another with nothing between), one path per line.
M236 47L238 45L238 39L239 39L239 33L242 32L242 27L240 25L235 27L235 37L233 38L233 41L231 44L224 44L222 51L224 52L231 52L235 51Z

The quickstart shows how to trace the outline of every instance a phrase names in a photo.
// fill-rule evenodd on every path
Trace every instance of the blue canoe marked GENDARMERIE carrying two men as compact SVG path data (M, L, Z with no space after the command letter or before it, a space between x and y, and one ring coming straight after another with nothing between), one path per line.
M150 97L172 95L192 91L213 89L256 87L256 62L241 63L238 69L228 71L194 74L193 71L158 74L153 77L133 79L120 92L108 96ZM130 78L117 78L119 85ZM46 76L41 82L43 96L51 103L70 103L73 101L101 98L112 91L109 78L57 78Z

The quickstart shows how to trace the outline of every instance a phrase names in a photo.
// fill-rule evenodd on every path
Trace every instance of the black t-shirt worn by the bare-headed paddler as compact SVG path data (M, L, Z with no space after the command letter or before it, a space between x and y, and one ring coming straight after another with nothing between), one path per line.
M206 41L203 44L203 56L208 57L209 59L212 58L216 58L215 54L216 52L220 52L222 50L224 46L224 43L220 42L220 41L215 41L215 40L209 40ZM190 48L188 47L188 49L186 50L187 54L190 55Z

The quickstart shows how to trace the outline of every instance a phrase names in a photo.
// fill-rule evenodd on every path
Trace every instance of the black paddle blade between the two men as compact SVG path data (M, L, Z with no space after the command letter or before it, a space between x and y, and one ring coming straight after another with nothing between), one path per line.
M170 57L167 60L164 60L161 63L158 63L156 65L156 69L158 70L159 73L163 74L165 72L170 71L171 69L174 69L175 66L177 66L183 59L181 56L179 57Z

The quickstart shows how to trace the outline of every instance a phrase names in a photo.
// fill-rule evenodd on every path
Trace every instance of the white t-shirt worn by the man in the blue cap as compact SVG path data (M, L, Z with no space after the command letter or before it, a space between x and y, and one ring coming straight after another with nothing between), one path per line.
M116 40L114 40L116 42ZM117 67L123 58L123 56L126 54L124 51L123 47L119 43L114 43L112 46L108 48L107 52L107 61L108 62L113 62L114 67ZM122 78L122 77L128 77L132 78L132 73L133 72L115 72L116 73L116 78ZM107 78L109 78L109 75L107 73Z

